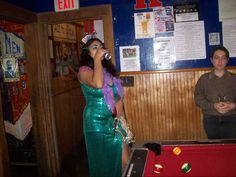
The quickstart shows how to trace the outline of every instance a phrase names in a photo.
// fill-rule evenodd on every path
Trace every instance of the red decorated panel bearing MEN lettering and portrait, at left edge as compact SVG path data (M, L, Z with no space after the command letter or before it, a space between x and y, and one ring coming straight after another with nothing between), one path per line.
M5 131L24 140L32 127L24 25L0 20L2 111Z

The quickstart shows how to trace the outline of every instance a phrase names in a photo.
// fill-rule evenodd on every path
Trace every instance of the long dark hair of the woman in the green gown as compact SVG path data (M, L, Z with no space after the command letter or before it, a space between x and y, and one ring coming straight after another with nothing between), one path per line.
M98 41L101 44L103 42L98 39L98 38L92 38L89 39L82 47L82 53L80 55L80 60L79 60L79 67L81 66L88 66L92 69L94 69L94 63L93 63L93 58L89 55L89 46L94 42ZM107 72L109 72L111 75L117 77L118 73L116 72L115 66L111 62L111 60L102 60L102 66L106 68Z

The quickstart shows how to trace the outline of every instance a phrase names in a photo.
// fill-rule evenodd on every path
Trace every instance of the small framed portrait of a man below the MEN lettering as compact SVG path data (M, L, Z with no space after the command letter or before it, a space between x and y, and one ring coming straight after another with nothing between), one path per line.
M18 60L14 56L1 58L4 82L19 81L19 66Z

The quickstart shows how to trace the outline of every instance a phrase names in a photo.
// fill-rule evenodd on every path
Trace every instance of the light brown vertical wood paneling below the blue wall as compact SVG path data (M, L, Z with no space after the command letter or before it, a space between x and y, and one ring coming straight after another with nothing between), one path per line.
M122 73L134 77L134 87L124 87L124 102L136 141L206 139L194 89L207 71Z

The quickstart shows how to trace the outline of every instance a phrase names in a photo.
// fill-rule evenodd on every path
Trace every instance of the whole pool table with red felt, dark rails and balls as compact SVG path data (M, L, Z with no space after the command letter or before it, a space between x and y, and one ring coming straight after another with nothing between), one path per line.
M236 177L235 140L152 142L152 144L159 145L158 153L143 146L132 148L123 177Z

